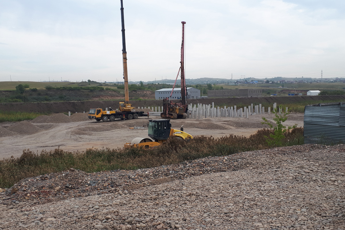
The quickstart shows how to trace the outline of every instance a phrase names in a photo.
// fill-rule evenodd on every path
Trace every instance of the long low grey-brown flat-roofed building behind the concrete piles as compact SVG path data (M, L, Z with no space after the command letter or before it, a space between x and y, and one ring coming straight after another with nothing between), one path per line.
M209 98L251 98L262 97L261 89L221 89L221 90L208 90L207 96Z

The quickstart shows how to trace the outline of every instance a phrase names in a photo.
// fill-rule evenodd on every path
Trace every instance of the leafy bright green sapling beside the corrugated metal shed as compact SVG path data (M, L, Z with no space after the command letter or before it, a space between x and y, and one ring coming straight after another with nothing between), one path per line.
M266 118L262 118L264 121L261 122L262 124L267 124L271 129L274 129L274 134L269 134L269 137L264 136L266 138L266 142L269 146L272 147L280 147L283 146L282 140L284 139L284 133L290 129L296 128L297 124L294 124L293 126L284 126L282 123L287 120L287 115L290 114L289 112L283 112L283 106L279 106L279 110L281 113L279 114L277 108L274 108L273 114L275 118L273 120L276 122L276 125L274 126L271 124Z

